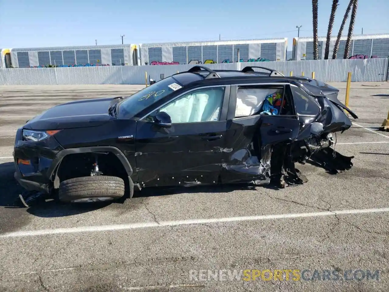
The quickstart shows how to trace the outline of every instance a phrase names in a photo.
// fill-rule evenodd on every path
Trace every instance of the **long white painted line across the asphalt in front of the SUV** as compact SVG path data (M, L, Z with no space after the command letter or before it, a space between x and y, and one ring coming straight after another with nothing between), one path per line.
M84 232L96 232L96 231L129 230L129 229L155 228L155 227L166 227L166 226L197 225L197 224L207 224L207 223L209 224L209 223L224 223L224 222L240 222L240 221L275 220L275 219L289 219L289 218L365 214L365 213L382 213L382 212L389 212L389 208L351 209L351 210L340 210L340 211L332 211L332 212L326 211L326 212L312 212L312 213L295 213L295 214L276 214L276 215L259 215L259 216L244 216L244 217L193 219L193 220L181 220L181 221L160 221L158 223L157 222L144 222L144 223L133 223L133 224L116 224L116 225L84 226L84 227L58 228L58 229L43 229L43 230L32 230L32 231L8 232L5 234L1 234L0 238L67 234L67 233L84 233Z

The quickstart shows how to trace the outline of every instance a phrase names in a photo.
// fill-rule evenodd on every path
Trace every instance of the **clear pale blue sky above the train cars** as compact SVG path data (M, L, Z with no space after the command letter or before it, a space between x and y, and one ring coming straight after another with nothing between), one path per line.
M336 35L349 0L340 0ZM359 0L354 34L389 33L389 1ZM319 36L331 0L319 0ZM0 0L0 48L312 36L310 0ZM343 34L347 33L348 24Z

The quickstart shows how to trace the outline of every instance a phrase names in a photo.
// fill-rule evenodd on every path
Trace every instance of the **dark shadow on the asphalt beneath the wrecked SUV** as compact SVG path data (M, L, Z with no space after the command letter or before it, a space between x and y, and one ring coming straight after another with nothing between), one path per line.
M6 162L0 164L0 208L3 208L3 212L0 212L0 226L5 226L5 221L11 220L14 222L12 226L7 228L1 228L0 232L17 230L22 227L26 222L23 220L30 220L26 213L33 216L42 218L55 218L66 217L82 213L88 213L102 209L108 206L113 208L123 209L137 209L141 208L142 202L147 197L164 196L164 195L179 195L182 193L226 193L234 192L237 190L255 190L255 185L249 185L247 183L236 183L231 185L200 185L191 187L149 187L142 188L141 191L134 192L133 199L129 199L128 192L126 195L116 201L112 202L99 202L99 203L79 203L70 204L63 203L58 200L58 197L47 197L45 195L39 195L37 192L27 192L14 178L15 166L14 162ZM24 206L19 198L19 195L23 194L28 207ZM29 200L28 198L33 198ZM21 220L24 218L23 220Z

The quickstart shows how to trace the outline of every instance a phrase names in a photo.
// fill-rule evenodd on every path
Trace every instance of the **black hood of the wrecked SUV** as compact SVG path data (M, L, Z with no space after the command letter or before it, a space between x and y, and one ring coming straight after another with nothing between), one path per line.
M116 101L117 98L104 98L77 100L60 104L27 121L23 128L56 130L99 126L115 119L108 114L108 109Z

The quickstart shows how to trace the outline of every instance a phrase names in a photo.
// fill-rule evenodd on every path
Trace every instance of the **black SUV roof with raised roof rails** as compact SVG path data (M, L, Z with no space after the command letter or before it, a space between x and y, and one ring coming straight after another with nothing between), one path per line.
M254 71L254 68L268 72ZM198 86L204 83L209 85L225 84L229 79L233 79L233 81L239 79L242 83L257 83L258 81L263 83L289 82L314 96L326 96L339 91L337 88L316 79L304 76L284 76L277 70L259 66L247 66L242 70L212 70L205 66L194 66L185 72L173 74L172 76L184 86Z

